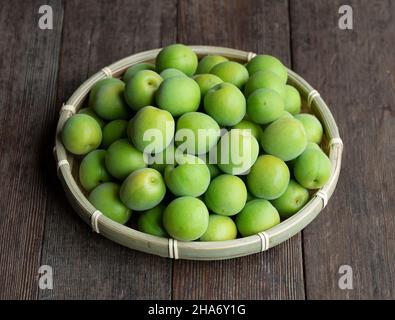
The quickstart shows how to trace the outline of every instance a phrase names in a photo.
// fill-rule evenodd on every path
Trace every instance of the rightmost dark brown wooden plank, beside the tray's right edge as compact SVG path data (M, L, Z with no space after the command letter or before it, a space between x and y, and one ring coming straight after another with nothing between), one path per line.
M333 111L344 141L337 190L303 233L308 299L395 298L395 3L348 1L353 30L338 28L344 1L291 1L295 70ZM353 269L353 290L338 286Z

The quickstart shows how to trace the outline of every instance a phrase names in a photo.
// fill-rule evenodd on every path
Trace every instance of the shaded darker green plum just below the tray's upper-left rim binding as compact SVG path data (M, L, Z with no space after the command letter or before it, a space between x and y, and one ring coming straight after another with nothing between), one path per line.
M124 91L125 83L117 78L100 80L89 94L89 107L105 120L129 119Z

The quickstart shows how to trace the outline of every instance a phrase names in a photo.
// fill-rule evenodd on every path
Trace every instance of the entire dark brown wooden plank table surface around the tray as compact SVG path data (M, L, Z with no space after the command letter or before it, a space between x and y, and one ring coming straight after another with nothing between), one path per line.
M11 1L0 8L0 298L394 299L395 2ZM38 9L53 9L41 30ZM170 43L280 57L324 97L344 141L333 198L302 233L267 252L172 261L93 233L52 157L62 102L100 68ZM53 289L38 286L41 265ZM353 289L338 285L353 271Z

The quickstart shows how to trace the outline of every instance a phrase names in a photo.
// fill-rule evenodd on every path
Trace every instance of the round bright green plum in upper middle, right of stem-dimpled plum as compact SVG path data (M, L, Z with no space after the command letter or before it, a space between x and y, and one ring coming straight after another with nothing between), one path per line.
M188 77L166 79L156 92L156 103L174 117L196 111L200 105L199 85Z

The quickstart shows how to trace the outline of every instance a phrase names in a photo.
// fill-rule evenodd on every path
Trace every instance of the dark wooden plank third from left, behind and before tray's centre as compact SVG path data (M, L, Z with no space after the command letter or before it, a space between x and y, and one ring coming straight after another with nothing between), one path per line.
M290 65L287 1L180 1L178 40L274 54ZM175 261L174 299L303 299L300 234L262 254Z

